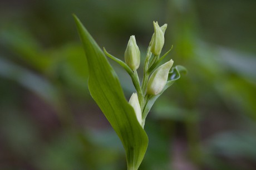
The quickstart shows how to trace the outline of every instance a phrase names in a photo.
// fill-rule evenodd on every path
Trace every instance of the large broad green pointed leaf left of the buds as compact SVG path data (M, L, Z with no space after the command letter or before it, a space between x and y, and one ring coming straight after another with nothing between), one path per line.
M74 16L88 61L88 87L92 98L109 120L126 152L128 169L137 169L146 152L148 138L125 99L124 92L103 51L80 20Z

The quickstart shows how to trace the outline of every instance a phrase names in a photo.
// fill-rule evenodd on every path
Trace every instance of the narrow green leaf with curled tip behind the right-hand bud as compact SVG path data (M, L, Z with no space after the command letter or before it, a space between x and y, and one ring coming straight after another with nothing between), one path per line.
M169 72L168 80L164 89L160 92L158 95L150 95L149 98L147 99L145 109L142 113L142 120L145 120L147 117L147 114L149 113L151 107L154 105L156 99L163 94L163 92L168 89L171 85L174 84L174 82L178 79L180 79L180 73L187 73L187 70L184 66L181 65L176 65L174 68L171 69Z

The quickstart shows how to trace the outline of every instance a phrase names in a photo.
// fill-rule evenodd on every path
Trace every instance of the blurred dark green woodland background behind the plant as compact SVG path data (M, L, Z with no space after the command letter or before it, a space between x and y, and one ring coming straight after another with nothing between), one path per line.
M141 63L153 20L168 23L166 60L189 70L147 117L140 169L256 169L255 8L255 0L0 1L0 169L126 169L87 89L72 13L122 60L135 35ZM129 75L110 63L129 99Z

